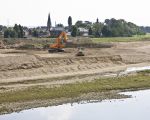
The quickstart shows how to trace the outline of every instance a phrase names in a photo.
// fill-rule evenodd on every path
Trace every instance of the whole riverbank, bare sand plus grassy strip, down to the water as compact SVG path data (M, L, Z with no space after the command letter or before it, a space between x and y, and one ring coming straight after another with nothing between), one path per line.
M150 41L114 42L111 47L47 50L0 49L0 113L81 100L127 97L125 90L149 88ZM132 69L131 69L132 68ZM134 74L134 75L133 75Z

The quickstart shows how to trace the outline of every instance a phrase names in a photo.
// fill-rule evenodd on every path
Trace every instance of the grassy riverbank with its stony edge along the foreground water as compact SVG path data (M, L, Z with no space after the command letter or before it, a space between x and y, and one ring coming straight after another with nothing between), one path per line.
M115 78L101 78L90 82L76 82L61 86L35 86L21 90L1 92L0 113L23 109L58 105L81 100L104 100L129 97L118 94L123 91L149 89L150 71ZM1 88L2 89L2 88Z

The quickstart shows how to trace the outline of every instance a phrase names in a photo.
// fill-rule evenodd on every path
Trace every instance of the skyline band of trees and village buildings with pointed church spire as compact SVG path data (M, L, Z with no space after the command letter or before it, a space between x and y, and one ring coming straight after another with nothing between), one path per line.
M23 37L45 37L51 35L51 18L48 16L47 27L44 28L27 28L20 24L15 24L14 27L0 26L0 32L4 32L5 38L23 38ZM150 32L150 27L139 27L132 22L127 22L123 19L106 19L100 22L97 18L94 23L90 21L77 21L72 25L72 17L68 17L68 26L58 24L57 27L64 28L65 31L71 32L73 37L82 36L84 33L90 37L130 37L133 35L144 35ZM57 33L57 30L55 31ZM26 36L25 36L26 33Z

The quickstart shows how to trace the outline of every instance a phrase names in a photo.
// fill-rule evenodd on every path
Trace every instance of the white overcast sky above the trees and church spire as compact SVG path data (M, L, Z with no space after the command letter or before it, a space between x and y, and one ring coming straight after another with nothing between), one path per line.
M125 19L150 26L150 0L0 0L0 24L45 26L48 13L52 25L67 25L69 16L77 20L103 22L106 18Z

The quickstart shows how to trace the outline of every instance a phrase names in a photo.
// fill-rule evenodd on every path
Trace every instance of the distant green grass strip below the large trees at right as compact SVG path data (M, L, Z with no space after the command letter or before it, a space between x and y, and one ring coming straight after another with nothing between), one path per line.
M105 37L105 38L91 38L94 43L101 42L134 42L142 40L150 40L150 34L135 35L133 37Z

